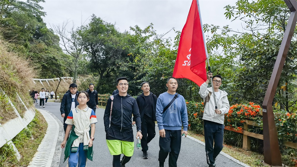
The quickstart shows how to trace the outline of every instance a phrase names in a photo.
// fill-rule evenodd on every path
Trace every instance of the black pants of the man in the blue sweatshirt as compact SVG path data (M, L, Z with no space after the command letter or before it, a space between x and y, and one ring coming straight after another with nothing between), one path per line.
M177 158L181 150L181 130L166 130L165 137L159 138L159 162L164 163L169 153L169 167L177 166Z

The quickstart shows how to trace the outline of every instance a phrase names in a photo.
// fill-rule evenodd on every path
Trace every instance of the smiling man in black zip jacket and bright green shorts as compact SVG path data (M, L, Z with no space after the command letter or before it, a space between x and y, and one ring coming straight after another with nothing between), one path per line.
M106 143L110 154L113 155L113 166L116 167L125 166L134 152L132 114L137 126L136 138L142 138L139 109L135 98L127 94L128 86L126 77L117 79L116 87L119 93L110 96L103 117ZM120 161L121 153L124 156Z

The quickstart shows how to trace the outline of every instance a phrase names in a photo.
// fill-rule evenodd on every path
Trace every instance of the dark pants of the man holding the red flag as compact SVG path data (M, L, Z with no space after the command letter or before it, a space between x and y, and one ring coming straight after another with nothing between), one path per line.
M208 165L213 165L214 158L216 158L223 149L223 136L225 126L223 124L212 121L203 121L206 162Z

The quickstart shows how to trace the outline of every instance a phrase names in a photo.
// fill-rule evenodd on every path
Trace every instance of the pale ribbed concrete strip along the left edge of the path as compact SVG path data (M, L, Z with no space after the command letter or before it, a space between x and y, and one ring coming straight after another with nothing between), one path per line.
M38 109L38 111L43 115L46 122L48 123L48 128L46 130L44 138L41 141L41 144L38 146L37 152L35 153L28 167L59 166L59 163L56 163L56 160L58 157L58 160L60 161L61 147L60 149L56 147L59 146L59 144L57 144L58 139L60 138L61 140L61 136L60 136L61 126L59 125L59 122L61 123L61 121L57 121L56 120L57 118L55 119L56 116L49 113L48 111L40 110L40 109Z

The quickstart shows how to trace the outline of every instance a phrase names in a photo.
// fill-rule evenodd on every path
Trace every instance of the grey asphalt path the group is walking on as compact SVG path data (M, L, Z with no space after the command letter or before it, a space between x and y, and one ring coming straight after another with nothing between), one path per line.
M45 108L43 110L47 110L53 113L57 118L61 120L63 123L63 118L60 113L60 105L61 103L48 102L45 104ZM39 104L36 105L39 108ZM103 115L104 109L97 109L96 116L98 123L96 124L95 130L95 140L93 143L93 161L88 160L87 166L89 167L111 167L113 157L110 155L105 138L104 124L103 124ZM135 149L134 154L131 160L125 165L126 167L140 167L140 166L158 166L158 154L159 154L159 130L157 125L155 126L156 136L149 143L148 150L148 159L142 158L141 149L136 149L136 140L135 140ZM136 136L136 127L133 127L134 134ZM58 143L60 144L60 143ZM122 155L123 156L123 155ZM169 155L168 155L169 157ZM164 163L165 166L168 167L168 157ZM60 166L66 167L67 161L64 161L64 149L62 149L62 154L60 158ZM189 139L182 138L181 141L181 152L178 157L177 165L181 167L208 167L206 164L206 154L205 154L205 146L202 144ZM216 160L217 167L242 167L242 165L230 160L224 155L218 155Z

